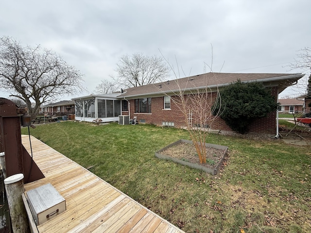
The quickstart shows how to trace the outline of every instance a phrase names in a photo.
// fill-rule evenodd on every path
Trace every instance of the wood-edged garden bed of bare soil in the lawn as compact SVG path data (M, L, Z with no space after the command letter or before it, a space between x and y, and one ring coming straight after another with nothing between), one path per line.
M171 160L215 175L225 159L228 147L209 143L206 143L205 146L207 148L207 163L204 164L200 164L199 156L192 141L184 139L156 151L155 157Z

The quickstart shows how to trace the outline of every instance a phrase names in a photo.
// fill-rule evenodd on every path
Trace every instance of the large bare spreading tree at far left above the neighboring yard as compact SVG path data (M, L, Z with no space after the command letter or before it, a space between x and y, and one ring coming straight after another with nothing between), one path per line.
M82 82L82 74L52 50L22 47L10 37L0 37L0 88L24 101L30 115L51 98L81 91Z

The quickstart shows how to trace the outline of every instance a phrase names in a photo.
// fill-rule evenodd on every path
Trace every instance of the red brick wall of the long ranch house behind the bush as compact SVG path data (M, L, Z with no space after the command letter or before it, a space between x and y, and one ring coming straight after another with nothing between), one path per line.
M276 97L277 87L272 87L271 94ZM208 94L211 95L211 94ZM173 98L173 97L172 97ZM213 100L216 98L216 93L212 93ZM182 114L178 106L171 100L171 110L164 110L164 98L152 98L151 114L135 113L135 100L130 100L130 117L137 117L138 122L144 119L146 123L162 125L163 121L174 122L174 127L186 127L187 120ZM209 114L209 113L208 113ZM122 115L128 115L128 112L122 112ZM195 119L192 123L195 122ZM231 131L225 121L218 117L210 125L211 129ZM250 132L254 133L275 133L276 132L276 112L270 113L268 117L256 119L250 125Z

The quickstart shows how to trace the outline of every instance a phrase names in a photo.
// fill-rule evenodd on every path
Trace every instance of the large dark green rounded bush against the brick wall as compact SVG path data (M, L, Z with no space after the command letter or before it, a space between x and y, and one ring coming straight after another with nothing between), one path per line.
M261 83L242 83L238 80L220 91L221 101L214 106L220 108L220 117L235 132L246 133L256 118L266 117L277 109L271 90Z

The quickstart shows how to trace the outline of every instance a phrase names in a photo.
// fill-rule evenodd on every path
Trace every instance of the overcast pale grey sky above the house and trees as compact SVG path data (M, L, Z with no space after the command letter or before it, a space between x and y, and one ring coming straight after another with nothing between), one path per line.
M310 11L311 0L0 0L0 35L54 50L91 93L137 52L177 60L186 76L205 63L214 72L309 72L286 66L311 47Z

